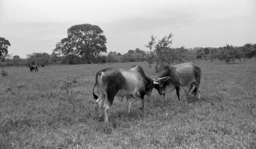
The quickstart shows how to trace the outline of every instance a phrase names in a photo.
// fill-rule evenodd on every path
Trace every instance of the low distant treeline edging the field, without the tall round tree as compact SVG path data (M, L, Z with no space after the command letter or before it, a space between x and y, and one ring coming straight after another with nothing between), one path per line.
M247 43L243 46L226 45L219 48L197 47L194 49L169 48L164 53L166 60L170 63L182 63L198 60L220 60L226 63L234 62L236 59L246 62L248 59L256 57L256 44ZM139 48L129 50L125 54L109 52L107 55L99 55L89 60L85 60L79 55L57 56L54 53L33 53L27 55L26 59L19 56L9 56L1 60L1 66L27 66L29 62L34 62L44 67L50 64L87 64L87 63L116 63L116 62L141 62L147 61L149 64L155 63L159 59L155 51L145 52Z

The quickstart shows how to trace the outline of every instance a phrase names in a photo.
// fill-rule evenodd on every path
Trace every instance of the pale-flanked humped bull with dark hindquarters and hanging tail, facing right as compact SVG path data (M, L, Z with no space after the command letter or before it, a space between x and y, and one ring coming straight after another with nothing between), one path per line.
M99 96L94 94L94 88L97 85ZM109 121L109 109L113 103L114 97L122 99L126 96L128 103L128 113L131 113L131 98L141 101L140 109L144 107L144 95L151 95L154 88L153 79L147 77L140 66L132 69L105 68L97 72L96 82L93 87L93 96L98 106L99 117L102 118L102 103L104 103L105 121Z

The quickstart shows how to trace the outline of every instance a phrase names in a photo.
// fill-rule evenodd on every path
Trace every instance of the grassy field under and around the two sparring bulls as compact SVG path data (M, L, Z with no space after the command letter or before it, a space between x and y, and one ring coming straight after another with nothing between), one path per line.
M201 100L176 93L167 102L153 89L144 111L115 98L110 123L99 122L92 89L105 67L144 63L3 68L0 148L256 148L256 59L224 64L198 61ZM2 69L0 69L2 70ZM67 86L73 82L73 86ZM68 91L68 93L67 93Z

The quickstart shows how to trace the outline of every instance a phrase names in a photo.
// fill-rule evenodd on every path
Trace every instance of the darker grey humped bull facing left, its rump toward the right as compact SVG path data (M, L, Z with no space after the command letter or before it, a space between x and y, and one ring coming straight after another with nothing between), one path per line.
M162 67L162 71L159 74L160 77L169 77L167 81L159 81L159 84L154 85L160 95L172 93L176 89L178 99L180 100L180 87L182 87L186 91L186 95L193 90L191 93L197 95L198 99L200 99L201 68L197 64L189 62L173 66L166 63Z

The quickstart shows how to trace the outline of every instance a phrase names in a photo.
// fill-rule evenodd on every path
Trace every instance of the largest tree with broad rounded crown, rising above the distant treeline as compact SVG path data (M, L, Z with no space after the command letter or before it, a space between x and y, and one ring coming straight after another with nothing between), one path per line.
M68 37L56 44L53 53L58 56L78 55L90 63L100 53L106 53L106 37L98 26L80 24L68 29Z

